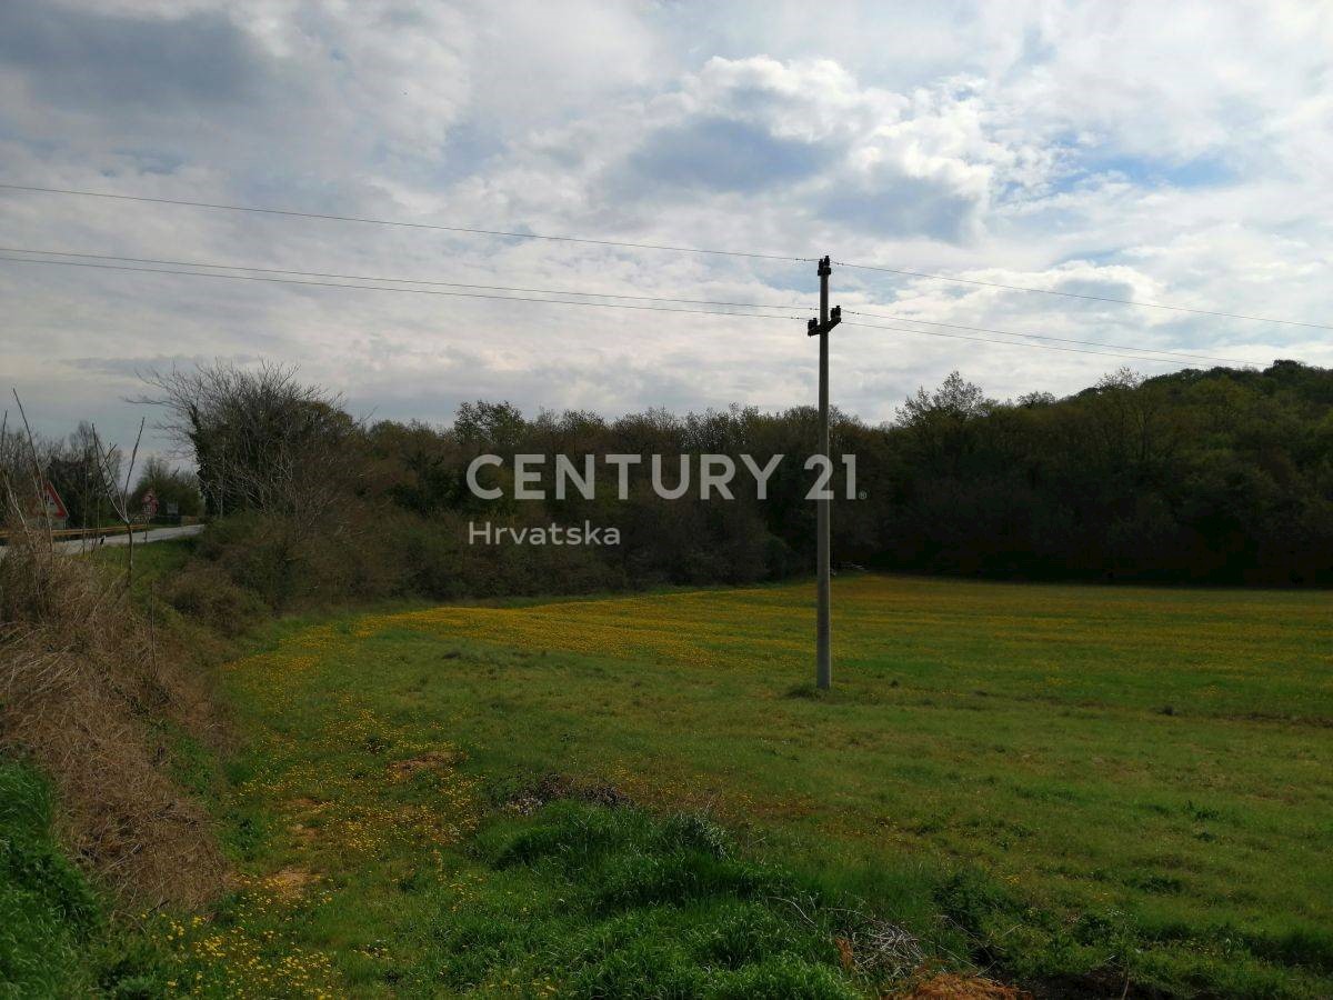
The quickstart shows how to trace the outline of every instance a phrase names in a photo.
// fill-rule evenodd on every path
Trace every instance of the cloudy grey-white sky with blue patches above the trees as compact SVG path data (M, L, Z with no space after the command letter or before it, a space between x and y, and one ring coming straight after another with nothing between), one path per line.
M0 3L4 184L830 253L1333 323L1330 177L1333 5L1312 0ZM801 260L7 189L0 244L790 307L758 320L0 261L0 381L48 433L93 417L124 436L136 371L215 357L295 363L359 412L432 421L477 397L608 415L814 399L814 344L789 319L816 301ZM1333 364L1328 329L846 267L832 301ZM954 368L1005 397L1120 364L833 335L834 400L868 420Z

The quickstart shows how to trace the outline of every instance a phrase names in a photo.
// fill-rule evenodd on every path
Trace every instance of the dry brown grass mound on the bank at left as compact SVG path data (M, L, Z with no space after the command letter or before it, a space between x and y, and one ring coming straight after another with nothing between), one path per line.
M56 781L65 843L124 901L201 903L225 865L167 761L172 732L220 732L203 684L124 577L36 532L15 541L0 560L0 747Z

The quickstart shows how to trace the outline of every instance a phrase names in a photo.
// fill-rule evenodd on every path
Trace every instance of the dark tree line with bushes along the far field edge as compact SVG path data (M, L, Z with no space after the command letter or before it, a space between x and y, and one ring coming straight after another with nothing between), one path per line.
M752 583L813 565L814 504L801 461L817 413L732 407L619 419L587 411L525 415L504 401L463 404L451 425L368 421L280 365L215 364L149 376L143 401L197 476L145 467L153 488L216 520L205 541L231 577L281 604L301 596L433 597ZM101 488L88 433L49 449L49 475L75 519ZM834 412L833 457L856 455L858 497L837 491L838 567L1010 579L1333 584L1333 372L1277 361L1142 379L1121 369L1057 399L994 400L950 375L896 419ZM95 449L93 449L95 451ZM697 491L664 500L639 477L596 496L483 500L467 485L479 455L785 455L756 496ZM841 468L841 465L838 465ZM92 471L91 471L92 469ZM597 475L609 473L601 464ZM105 476L104 476L105 477ZM149 483L151 481L151 483ZM468 523L615 527L615 547L487 548ZM211 547L211 549L209 549Z

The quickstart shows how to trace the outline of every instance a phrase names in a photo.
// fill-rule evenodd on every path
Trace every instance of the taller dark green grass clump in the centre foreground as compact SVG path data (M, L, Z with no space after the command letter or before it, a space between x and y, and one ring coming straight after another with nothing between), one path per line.
M441 925L425 960L453 989L860 995L836 971L838 928L781 903L804 900L801 887L737 859L728 836L696 816L561 803L535 821L496 824L476 853L488 863L488 889ZM500 885L515 892L497 893Z

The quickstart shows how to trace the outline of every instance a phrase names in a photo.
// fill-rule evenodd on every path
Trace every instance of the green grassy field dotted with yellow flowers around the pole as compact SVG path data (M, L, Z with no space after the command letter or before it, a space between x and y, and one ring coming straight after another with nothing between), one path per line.
M1328 595L844 577L832 695L808 684L812 596L273 625L227 668L247 749L183 775L240 881L216 913L147 917L144 976L785 997L914 967L1333 995Z

